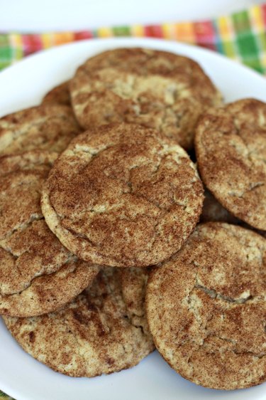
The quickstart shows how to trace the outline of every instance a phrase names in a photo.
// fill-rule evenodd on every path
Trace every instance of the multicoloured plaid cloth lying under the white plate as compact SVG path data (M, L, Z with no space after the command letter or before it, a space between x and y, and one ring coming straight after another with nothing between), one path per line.
M0 33L0 70L45 48L114 36L164 38L203 46L238 60L260 73L266 73L266 3L201 22L115 26L79 32ZM12 400L0 391L1 399Z

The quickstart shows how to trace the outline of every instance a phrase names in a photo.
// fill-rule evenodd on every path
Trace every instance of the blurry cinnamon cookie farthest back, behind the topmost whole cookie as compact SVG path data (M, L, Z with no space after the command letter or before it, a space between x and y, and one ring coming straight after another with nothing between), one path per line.
M193 147L194 127L221 95L199 64L165 51L117 48L89 58L70 81L84 129L110 122L152 127Z

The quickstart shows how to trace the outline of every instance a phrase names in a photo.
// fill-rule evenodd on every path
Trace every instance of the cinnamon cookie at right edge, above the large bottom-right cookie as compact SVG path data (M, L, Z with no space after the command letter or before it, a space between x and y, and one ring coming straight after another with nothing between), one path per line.
M195 147L201 178L218 202L266 230L266 104L245 99L208 110Z

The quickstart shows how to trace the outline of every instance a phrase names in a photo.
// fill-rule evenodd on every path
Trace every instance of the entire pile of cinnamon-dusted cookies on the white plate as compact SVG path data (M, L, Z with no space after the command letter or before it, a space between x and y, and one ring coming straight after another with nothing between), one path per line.
M0 154L0 314L26 352L95 377L156 347L202 386L266 380L264 103L121 48L1 118Z

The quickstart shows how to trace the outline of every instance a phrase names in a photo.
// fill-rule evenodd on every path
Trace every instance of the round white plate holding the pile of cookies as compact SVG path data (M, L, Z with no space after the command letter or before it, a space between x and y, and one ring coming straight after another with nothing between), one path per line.
M266 101L266 80L248 68L201 48L138 38L73 43L28 57L0 73L0 114L38 104L54 85L70 78L84 60L115 47L142 46L172 51L199 61L226 101ZM51 338L52 340L52 338ZM70 378L23 352L0 320L0 389L16 400L263 400L266 384L238 391L205 389L179 377L157 352L137 367L109 376Z

